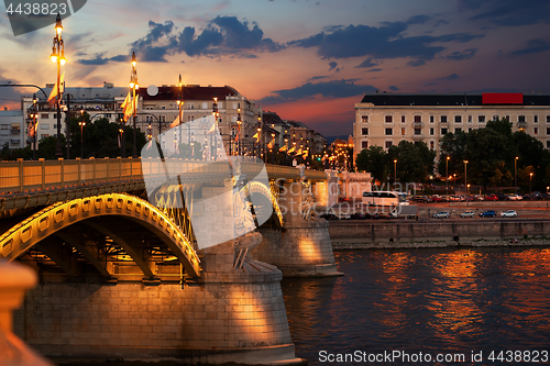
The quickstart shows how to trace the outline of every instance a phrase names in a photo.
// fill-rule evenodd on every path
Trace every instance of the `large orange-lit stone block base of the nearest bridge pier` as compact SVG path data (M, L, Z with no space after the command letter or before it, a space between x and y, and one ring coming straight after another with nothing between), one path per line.
M184 286L41 284L15 313L14 331L64 359L294 359L280 278L276 270Z

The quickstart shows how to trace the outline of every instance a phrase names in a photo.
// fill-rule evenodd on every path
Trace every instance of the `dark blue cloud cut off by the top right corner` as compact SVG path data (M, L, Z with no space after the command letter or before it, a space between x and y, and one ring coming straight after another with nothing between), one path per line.
M461 10L475 11L471 20L488 22L498 26L518 26L550 23L548 0L461 0Z

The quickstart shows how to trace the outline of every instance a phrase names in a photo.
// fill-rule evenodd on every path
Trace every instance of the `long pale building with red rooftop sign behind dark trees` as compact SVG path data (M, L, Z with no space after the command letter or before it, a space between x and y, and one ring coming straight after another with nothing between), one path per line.
M482 129L497 119L550 148L550 95L377 92L355 104L353 153L371 145L387 151L406 140L425 142L439 157L439 141L447 133Z

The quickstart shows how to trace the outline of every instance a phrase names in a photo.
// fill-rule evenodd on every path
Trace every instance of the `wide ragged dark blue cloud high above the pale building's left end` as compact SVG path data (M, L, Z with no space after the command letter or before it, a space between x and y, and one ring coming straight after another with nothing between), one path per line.
M433 59L446 49L433 43L466 43L484 35L453 33L441 36L405 36L407 22L384 23L380 27L369 25L334 26L310 37L288 42L288 46L317 48L322 58L349 58L371 56L376 59L413 57L415 65ZM367 41L366 41L367 40Z

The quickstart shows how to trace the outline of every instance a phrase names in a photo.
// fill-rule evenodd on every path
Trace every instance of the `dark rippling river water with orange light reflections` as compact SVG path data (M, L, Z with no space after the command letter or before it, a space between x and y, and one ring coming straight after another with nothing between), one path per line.
M310 365L550 364L550 248L334 257L345 276L283 281L296 355Z

